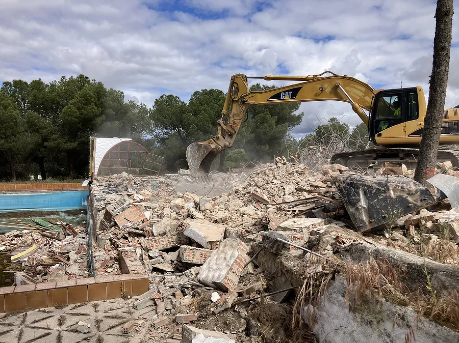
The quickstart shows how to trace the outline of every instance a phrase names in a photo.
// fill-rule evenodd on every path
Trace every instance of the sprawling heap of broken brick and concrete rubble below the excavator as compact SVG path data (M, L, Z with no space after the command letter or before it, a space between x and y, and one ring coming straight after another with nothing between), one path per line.
M386 164L383 168L384 175L410 176L410 170L402 164ZM445 175L455 173L448 164L437 169ZM260 318L259 308L278 313L279 318L291 318L292 297L288 293L294 293L293 286L300 285L304 275L319 279L334 274L339 268L328 266L330 261L349 254L354 255L352 261L357 261L359 251L371 250L373 254L373 249L385 248L387 251L379 255L387 259L391 254L398 256L398 251L416 251L421 258L431 249L435 253L425 257L426 261L435 261L425 264L432 275L431 283L437 286L447 281L445 284L452 287L453 280L436 270L438 264L445 264L445 270L455 275L450 269L455 268L456 260L445 258L438 249L458 249L459 210L446 211L447 200L437 202L427 194L427 188L409 178L358 174L339 164L323 165L319 173L279 158L276 163L250 171L232 170L231 176L212 172L207 177L195 177L182 170L155 177L126 174L94 178L90 212L94 217L95 274L149 277L150 290L132 297L130 308L125 309L125 313L134 309L141 315L126 318L127 324L117 330L121 327L124 334L142 332L145 341L170 343L181 339L247 341L247 332L257 342L291 341L291 323L287 331L276 323L269 323L269 330L262 329L266 323ZM397 182L392 182L395 179ZM354 188L349 186L351 181L355 181ZM400 197L405 200L400 201ZM363 237L349 230L351 224L359 232L376 228L382 231ZM17 254L23 248L38 246L21 261L29 266L23 272L33 280L30 282L88 277L86 227L71 228L67 234L62 227L59 234L51 230L14 230L0 236L0 242L6 243L0 244L0 251ZM365 242L375 245L364 249ZM314 255L316 251L319 256ZM249 256L253 256L250 263ZM432 256L443 260L440 263ZM417 271L425 275L425 268L417 266ZM264 296L263 306L257 306L260 294L281 290ZM285 301L287 297L289 301ZM248 306L250 303L255 306ZM149 321L148 325L143 321ZM190 322L198 328L186 325ZM183 324L182 332L177 323ZM86 330L86 325L80 326ZM267 336L276 331L281 332L281 338Z

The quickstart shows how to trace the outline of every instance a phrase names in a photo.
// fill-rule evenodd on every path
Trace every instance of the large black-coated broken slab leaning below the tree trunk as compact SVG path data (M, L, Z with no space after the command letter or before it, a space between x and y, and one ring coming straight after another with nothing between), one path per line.
M380 230L436 203L428 188L405 177L342 174L334 180L357 232Z

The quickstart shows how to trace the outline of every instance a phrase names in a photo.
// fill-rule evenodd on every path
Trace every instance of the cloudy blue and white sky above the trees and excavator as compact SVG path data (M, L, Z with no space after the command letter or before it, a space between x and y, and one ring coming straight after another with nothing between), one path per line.
M455 5L459 2L456 0ZM83 73L148 106L163 93L187 101L226 90L231 75L351 75L374 88L428 91L432 0L0 0L0 81ZM459 23L447 107L459 104ZM338 117L340 102L303 103L293 133Z

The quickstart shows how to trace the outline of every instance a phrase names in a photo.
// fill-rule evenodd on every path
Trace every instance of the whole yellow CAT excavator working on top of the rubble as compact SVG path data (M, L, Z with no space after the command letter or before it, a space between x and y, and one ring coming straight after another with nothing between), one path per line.
M247 83L249 78L300 82L251 92ZM422 88L375 90L356 78L325 71L308 76L233 75L221 119L217 121L217 134L187 148L187 162L191 172L210 172L211 164L218 154L233 145L249 105L324 100L348 102L368 127L370 140L380 146L371 150L335 154L330 159L331 163L348 167L358 165L361 168L382 162L402 162L410 168L416 166L426 113ZM441 145L459 144L457 107L444 110ZM369 111L369 116L365 110ZM437 159L451 161L454 166L459 166L459 151L440 149Z

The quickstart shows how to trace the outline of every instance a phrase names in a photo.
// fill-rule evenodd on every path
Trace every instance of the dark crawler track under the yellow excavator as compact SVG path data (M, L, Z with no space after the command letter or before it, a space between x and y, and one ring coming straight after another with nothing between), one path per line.
M366 169L370 165L373 165L373 168L382 167L384 162L399 162L405 164L408 168L414 169L416 168L418 155L419 149L382 147L338 153L331 156L330 163L338 163L351 169ZM459 151L439 149L437 161L450 161L453 166L459 167Z

